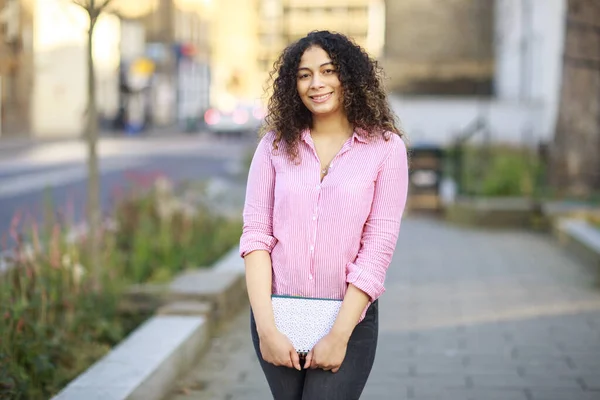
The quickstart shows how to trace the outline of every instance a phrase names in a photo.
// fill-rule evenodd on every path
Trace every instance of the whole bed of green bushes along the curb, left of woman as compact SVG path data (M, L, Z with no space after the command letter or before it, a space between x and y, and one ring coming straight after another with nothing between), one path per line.
M32 248L0 276L0 399L50 398L149 316L119 313L128 285L210 265L237 243L239 220L212 214L197 189L169 185L134 188L116 203L100 282L86 270L85 241L65 240L57 222L33 226Z

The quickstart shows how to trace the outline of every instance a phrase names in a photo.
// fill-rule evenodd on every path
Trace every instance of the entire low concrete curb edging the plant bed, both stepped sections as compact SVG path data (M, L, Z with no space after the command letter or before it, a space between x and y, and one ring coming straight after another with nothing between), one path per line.
M243 260L234 248L211 268L185 271L141 298L150 318L53 400L160 400L193 366L215 328L247 304ZM236 257L237 256L237 257Z

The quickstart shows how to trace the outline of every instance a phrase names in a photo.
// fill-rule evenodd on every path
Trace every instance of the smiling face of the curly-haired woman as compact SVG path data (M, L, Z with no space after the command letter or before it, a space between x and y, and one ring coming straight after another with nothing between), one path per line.
M302 55L296 88L302 103L313 116L343 112L342 83L331 57L322 48L310 47Z

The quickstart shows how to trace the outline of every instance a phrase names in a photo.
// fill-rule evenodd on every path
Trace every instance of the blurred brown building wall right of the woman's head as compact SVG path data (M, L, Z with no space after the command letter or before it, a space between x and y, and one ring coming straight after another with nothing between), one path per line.
M390 90L491 93L494 1L387 0L385 26Z

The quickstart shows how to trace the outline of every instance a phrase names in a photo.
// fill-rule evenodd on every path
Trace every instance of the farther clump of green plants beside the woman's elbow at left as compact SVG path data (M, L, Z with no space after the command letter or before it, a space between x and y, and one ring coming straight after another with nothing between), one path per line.
M176 192L157 180L143 194L133 190L125 196L115 215L123 276L135 283L164 282L183 269L210 265L241 232L239 219L211 213L201 185Z

